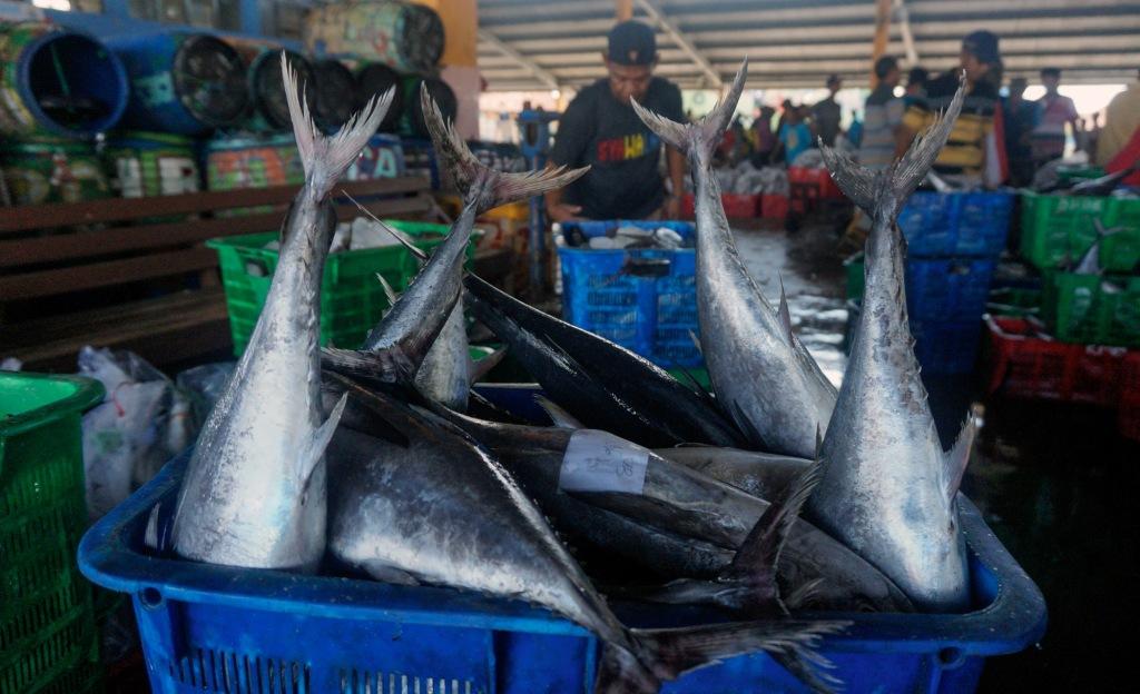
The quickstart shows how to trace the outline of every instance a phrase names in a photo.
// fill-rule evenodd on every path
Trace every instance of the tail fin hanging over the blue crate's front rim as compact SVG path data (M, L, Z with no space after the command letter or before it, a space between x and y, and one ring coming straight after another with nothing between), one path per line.
M823 679L817 670L830 668L831 663L820 655L820 643L824 636L838 634L848 626L847 621L776 619L677 629L634 629L632 634L645 651L650 670L659 680L675 679L691 670L757 651L780 660L791 659L806 672Z

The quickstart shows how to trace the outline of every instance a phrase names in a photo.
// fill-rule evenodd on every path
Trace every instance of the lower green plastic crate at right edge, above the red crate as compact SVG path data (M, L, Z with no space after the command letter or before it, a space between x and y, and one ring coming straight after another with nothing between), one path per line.
M1140 346L1140 277L1053 272L1042 303L1061 342Z

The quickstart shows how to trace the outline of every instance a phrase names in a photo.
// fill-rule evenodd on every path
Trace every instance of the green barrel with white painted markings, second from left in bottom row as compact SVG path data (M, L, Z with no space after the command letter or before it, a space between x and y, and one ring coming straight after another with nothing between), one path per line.
M199 188L194 140L165 132L123 132L107 140L104 160L122 197L158 197Z

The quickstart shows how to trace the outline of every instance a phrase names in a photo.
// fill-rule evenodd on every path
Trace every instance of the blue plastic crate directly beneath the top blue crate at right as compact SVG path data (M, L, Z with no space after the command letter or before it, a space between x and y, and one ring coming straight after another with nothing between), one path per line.
M986 311L993 272L993 260L910 258L907 310L917 319L977 322Z

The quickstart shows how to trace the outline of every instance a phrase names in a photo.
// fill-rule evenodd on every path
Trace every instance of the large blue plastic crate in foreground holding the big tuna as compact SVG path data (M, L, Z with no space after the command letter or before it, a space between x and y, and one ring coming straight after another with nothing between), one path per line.
M524 389L514 392L530 398ZM88 578L131 595L156 694L591 692L597 640L521 602L148 554L142 538L150 509L160 503L171 508L185 467L185 455L166 465L100 520L79 550ZM826 615L853 622L822 647L849 694L971 692L985 658L1020 651L1043 635L1041 593L964 498L961 511L975 610ZM708 619L665 606L616 610L640 626ZM763 653L698 670L662 689L759 691L807 692Z

